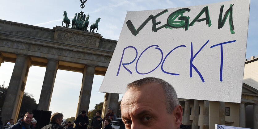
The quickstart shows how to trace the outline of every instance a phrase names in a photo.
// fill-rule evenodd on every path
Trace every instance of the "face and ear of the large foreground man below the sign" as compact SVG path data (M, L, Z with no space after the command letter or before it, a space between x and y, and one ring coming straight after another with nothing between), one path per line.
M156 83L144 84L140 89L128 89L121 102L122 120L126 129L179 128L182 114L180 122L176 123L178 117L175 112L167 113L165 92Z

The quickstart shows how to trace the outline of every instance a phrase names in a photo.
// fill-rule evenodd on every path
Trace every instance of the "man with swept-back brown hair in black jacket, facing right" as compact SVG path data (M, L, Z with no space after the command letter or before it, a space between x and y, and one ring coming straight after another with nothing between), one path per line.
M63 129L61 127L61 123L63 122L63 114L62 113L54 113L50 117L50 123L41 129Z

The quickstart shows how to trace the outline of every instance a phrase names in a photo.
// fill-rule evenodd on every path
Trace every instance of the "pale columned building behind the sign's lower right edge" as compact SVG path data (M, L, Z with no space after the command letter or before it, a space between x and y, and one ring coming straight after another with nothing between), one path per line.
M214 129L215 124L258 129L258 57L252 56L245 61L240 104L190 99L179 101L183 108L182 123L191 125L192 129Z

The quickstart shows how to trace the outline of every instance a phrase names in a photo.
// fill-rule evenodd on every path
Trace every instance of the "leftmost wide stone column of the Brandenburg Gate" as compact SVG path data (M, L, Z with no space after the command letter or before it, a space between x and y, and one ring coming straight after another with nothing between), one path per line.
M2 107L2 121L14 119L20 111L27 75L31 66L31 60L24 55L16 55L16 61L11 76L11 80L7 89L6 98Z

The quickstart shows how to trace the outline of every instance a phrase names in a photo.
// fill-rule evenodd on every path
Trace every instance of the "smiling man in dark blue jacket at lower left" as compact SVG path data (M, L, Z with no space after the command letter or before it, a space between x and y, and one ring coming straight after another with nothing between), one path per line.
M25 113L23 119L19 119L19 123L14 124L9 129L34 129L33 125L31 125L31 121L33 118L32 112Z

